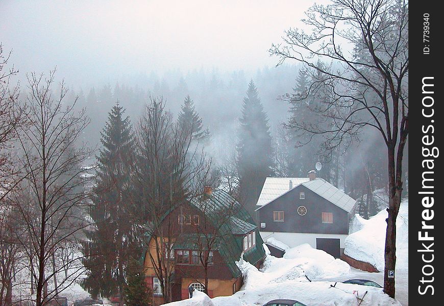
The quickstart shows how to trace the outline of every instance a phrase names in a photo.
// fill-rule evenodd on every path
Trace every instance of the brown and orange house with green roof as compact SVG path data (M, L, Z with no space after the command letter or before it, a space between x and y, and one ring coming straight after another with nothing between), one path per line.
M162 290L167 290L159 276L171 276L172 301L188 298L190 287L210 297L227 296L242 286L236 262L248 261L259 268L265 259L258 226L224 190L206 188L203 195L166 212L161 223L158 232L169 237L147 235L143 261L157 304L163 303Z

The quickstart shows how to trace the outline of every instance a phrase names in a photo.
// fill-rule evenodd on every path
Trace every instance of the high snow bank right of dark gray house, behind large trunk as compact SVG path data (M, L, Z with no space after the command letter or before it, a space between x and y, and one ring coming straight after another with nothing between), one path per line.
M358 231L350 234L345 242L344 253L356 260L374 265L379 271L384 270L384 245L387 223L387 211L380 211L365 220L355 218L352 227ZM354 227L355 226L355 227ZM408 269L408 201L401 203L396 221L397 226L397 268Z

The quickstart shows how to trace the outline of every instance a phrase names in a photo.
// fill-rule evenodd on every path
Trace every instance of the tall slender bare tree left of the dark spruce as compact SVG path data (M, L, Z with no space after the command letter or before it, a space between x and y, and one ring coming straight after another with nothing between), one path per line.
M29 190L29 202L16 201L28 232L28 239L20 239L20 243L31 262L37 306L66 289L83 270L80 255L64 263L56 262L55 255L66 241L78 245L76 233L85 226L81 212L88 194L80 173L82 162L92 153L82 145L76 148L89 119L84 110L73 112L76 101L65 103L67 89L63 83L54 95L54 77L55 71L48 78L35 73L28 76L30 125L16 129L26 170L22 184L27 188L22 190ZM64 270L68 277L59 278Z

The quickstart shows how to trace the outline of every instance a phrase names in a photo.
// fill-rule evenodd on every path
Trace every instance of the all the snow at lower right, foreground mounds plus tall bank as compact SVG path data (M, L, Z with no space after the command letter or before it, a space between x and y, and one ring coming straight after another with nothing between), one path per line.
M353 234L346 239L346 254L383 271L386 217L385 210L369 220L356 216L350 231ZM286 250L284 258L270 256L268 251L261 270L246 262L239 263L245 280L241 290L234 295L210 299L204 293L196 292L191 299L167 305L249 306L262 305L276 298L290 298L309 306L351 306L358 305L357 294L362 297L367 291L361 306L408 306L408 201L402 202L397 219L397 300L389 298L381 288L340 283L351 278L364 278L383 285L382 272L350 268L346 262L308 244L289 248L277 240L269 242ZM331 288L335 282L339 283Z

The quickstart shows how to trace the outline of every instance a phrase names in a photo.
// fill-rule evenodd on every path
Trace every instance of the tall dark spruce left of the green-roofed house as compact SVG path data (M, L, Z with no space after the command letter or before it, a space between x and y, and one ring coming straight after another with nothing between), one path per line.
M83 264L88 276L82 284L93 296L122 295L128 260L138 251L132 222L125 205L130 196L131 156L134 138L129 117L117 103L101 133L95 196L89 216L95 228L86 231Z

